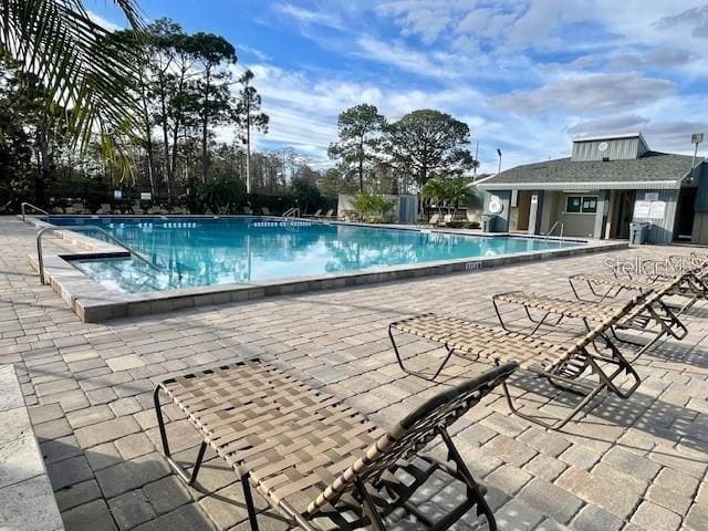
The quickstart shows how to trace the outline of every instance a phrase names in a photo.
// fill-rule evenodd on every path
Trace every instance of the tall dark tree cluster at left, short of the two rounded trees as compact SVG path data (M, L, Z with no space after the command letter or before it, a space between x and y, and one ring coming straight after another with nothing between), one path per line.
M124 30L111 39L116 54L131 53L123 61L139 61L129 85L138 112L131 116L131 143L122 146L129 170L111 156L105 138L95 135L82 148L72 142L67 129L74 111L53 100L38 75L2 54L3 210L17 210L23 200L43 207L88 197L93 204L111 202L114 189L129 199L149 191L154 202L195 207L215 189L242 196L247 181L253 194L282 195L293 180L319 180L292 148L250 153L251 134L266 133L269 118L253 73L236 73L236 50L226 39L188 34L167 19L139 35ZM233 132L232 137L218 142L218 131Z

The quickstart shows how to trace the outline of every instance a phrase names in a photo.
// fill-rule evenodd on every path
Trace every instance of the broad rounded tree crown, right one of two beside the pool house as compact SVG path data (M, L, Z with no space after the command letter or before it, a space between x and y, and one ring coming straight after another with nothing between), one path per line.
M461 175L478 163L468 150L469 127L449 114L414 111L386 128L385 159L418 186L438 176Z

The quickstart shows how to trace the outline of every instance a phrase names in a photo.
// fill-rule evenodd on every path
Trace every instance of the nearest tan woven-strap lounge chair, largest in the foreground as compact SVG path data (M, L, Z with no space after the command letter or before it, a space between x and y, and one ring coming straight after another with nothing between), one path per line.
M167 379L155 389L155 410L167 461L187 483L197 480L207 446L233 467L253 530L258 522L251 488L291 524L308 531L324 525L361 529L356 521L346 521L352 514L373 530L384 530L386 520L402 509L435 530L449 529L475 509L496 530L483 489L447 428L516 368L508 364L448 388L387 433L339 399L259 361ZM190 475L170 457L160 392L204 439ZM447 462L419 454L438 437L447 448ZM409 500L436 470L462 481L467 496L433 524L429 513ZM414 481L404 482L400 475Z

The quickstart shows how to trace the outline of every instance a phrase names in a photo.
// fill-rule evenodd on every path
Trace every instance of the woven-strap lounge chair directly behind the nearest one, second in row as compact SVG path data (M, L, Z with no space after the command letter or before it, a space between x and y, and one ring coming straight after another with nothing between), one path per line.
M559 388L584 395L583 399L565 418L548 423L539 416L520 412L513 404L506 384L502 384L509 408L514 414L545 428L561 429L601 392L607 389L620 398L628 398L639 386L639 375L607 334L610 329L615 326L629 309L638 304L647 304L646 294L639 294L626 302L615 313L608 315L572 344L556 344L518 332L509 332L497 326L433 313L391 323L388 337L400 369L431 382L436 381L455 354L465 360L497 365L517 362L521 368L548 379L549 383ZM425 373L406 366L396 343L394 331L417 335L442 344L447 354L437 369L433 373ZM595 378L585 377L586 373L590 373L589 376L594 376ZM625 375L629 377L631 383L628 388L621 388L615 381L624 378Z

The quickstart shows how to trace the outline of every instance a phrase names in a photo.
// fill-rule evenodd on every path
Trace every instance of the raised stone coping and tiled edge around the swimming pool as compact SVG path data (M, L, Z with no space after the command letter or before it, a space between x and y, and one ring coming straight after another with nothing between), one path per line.
M32 219L39 228L50 225L39 219ZM354 225L354 223L346 223ZM356 223L357 226L364 223ZM398 227L399 229L402 227ZM416 230L408 228L409 230ZM450 230L433 230L435 232L460 233ZM465 232L462 232L465 233ZM472 272L481 269L510 266L516 263L549 260L552 258L573 257L593 252L626 249L626 241L590 241L583 247L528 251L500 257L480 257L478 259L460 259L454 261L426 262L392 267L376 271L360 271L342 273L336 277L298 277L278 279L258 283L220 284L199 288L185 288L146 293L116 293L105 289L98 282L82 273L72 266L72 260L88 258L128 257L124 249L95 240L71 230L56 231L61 238L86 249L71 253L45 254L44 274L54 291L71 306L83 322L101 322L138 315L166 313L185 308L207 306L229 302L244 302L264 296L278 296L308 291L342 289L354 285L375 284L399 280L416 279L436 274ZM477 236L480 236L477 233ZM518 235L481 235L488 237ZM521 235L523 237L523 235ZM575 240L579 241L579 240ZM30 262L37 269L37 258L29 256Z

